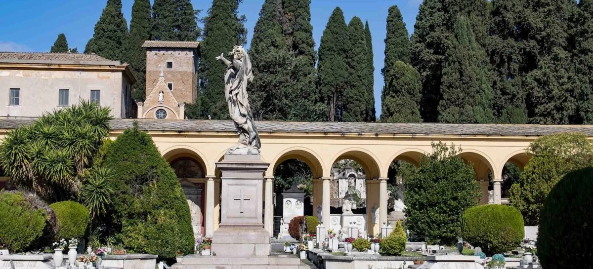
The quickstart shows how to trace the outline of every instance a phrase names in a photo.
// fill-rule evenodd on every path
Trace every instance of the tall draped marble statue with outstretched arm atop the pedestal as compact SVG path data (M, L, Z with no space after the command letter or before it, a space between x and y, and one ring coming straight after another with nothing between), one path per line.
M227 65L224 75L225 99L228 104L228 113L239 135L239 142L229 148L228 153L259 155L260 137L247 98L247 84L253 81L251 60L242 46L234 46L229 56L232 56L232 61L225 59L224 53L216 57L216 60L221 60Z

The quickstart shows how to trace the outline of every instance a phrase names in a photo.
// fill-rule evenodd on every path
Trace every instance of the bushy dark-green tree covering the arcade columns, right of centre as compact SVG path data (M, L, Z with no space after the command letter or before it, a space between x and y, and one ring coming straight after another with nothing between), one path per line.
M452 245L461 235L461 215L477 204L480 188L460 148L439 142L432 149L405 182L407 228L429 244Z

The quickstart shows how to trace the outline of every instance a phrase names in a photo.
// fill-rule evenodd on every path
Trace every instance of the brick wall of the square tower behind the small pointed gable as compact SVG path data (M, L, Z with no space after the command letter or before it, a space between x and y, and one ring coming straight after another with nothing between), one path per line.
M173 68L167 69L167 62ZM179 103L195 103L197 98L197 54L185 48L148 48L146 50L146 96L157 85L163 65L164 78L173 83L173 95ZM222 89L221 89L222 90Z

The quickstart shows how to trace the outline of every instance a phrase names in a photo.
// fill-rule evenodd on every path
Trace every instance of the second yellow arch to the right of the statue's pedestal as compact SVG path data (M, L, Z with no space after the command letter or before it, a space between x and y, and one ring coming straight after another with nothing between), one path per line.
M379 178L382 175L387 175L387 171L382 171L381 169L381 162L377 159L373 153L369 152L366 149L362 148L349 148L342 150L334 156L332 161L330 162L330 166L324 171L325 177L330 177L331 167L340 160L343 159L352 159L353 161L358 162L361 164L362 168L365 170L365 175L367 179L371 178Z

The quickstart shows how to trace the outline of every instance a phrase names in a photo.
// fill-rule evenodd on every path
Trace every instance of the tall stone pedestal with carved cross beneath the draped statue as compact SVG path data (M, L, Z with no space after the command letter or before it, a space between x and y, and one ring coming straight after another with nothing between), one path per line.
M212 252L224 257L270 255L270 233L263 228L263 173L259 155L225 155L221 171L221 223Z

